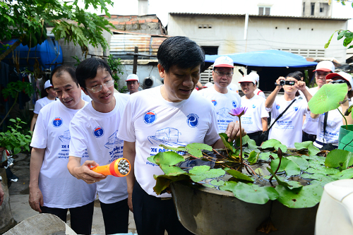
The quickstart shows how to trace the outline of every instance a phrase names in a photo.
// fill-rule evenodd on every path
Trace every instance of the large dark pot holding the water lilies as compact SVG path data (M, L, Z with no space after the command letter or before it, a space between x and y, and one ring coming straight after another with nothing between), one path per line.
M263 234L257 228L270 218L277 231L270 234L313 235L318 205L292 209L276 201L245 203L233 193L172 183L172 195L181 224L198 235Z

